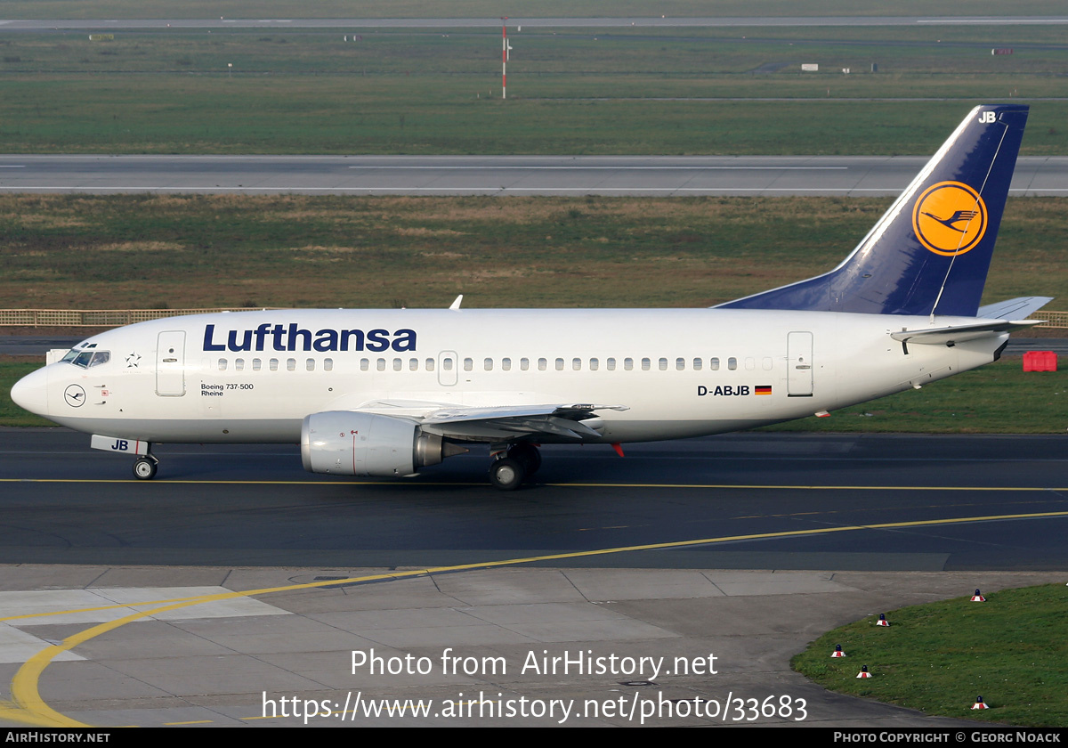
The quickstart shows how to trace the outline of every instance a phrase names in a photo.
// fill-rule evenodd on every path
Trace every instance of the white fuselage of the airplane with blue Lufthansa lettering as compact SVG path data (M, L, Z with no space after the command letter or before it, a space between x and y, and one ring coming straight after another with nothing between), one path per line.
M95 336L77 349L106 361L50 364L17 398L72 428L155 442L295 443L302 419L328 410L419 420L443 405L549 403L626 408L598 411L603 442L673 439L833 410L990 362L1007 333L953 347L890 337L968 322L721 309L205 314Z

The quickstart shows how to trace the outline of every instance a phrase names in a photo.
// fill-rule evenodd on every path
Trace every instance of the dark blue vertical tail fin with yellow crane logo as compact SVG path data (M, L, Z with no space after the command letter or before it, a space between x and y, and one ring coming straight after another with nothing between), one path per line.
M976 107L841 265L720 308L975 316L1026 121Z

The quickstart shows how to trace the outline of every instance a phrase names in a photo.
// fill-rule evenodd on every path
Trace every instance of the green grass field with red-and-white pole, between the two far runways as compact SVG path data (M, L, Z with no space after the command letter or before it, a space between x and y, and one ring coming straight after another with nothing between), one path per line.
M1062 154L1058 34L523 31L506 102L492 29L0 34L0 152L930 154L976 103L1053 97L1022 152ZM769 64L785 67L751 73Z

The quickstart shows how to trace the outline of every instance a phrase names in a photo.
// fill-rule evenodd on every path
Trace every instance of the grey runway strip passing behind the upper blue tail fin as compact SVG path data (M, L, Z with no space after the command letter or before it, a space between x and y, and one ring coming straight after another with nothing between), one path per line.
M5 192L896 196L927 157L0 156ZM1068 157L1024 157L1012 196L1068 194Z

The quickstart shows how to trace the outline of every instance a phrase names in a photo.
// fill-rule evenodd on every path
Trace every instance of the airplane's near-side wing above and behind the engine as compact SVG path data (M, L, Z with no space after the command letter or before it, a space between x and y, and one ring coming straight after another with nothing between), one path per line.
M598 438L602 425L598 410L628 410L625 405L556 403L547 405L502 405L468 407L441 405L424 409L428 403L377 401L359 408L383 416L406 418L424 432L453 439L512 440L522 436L564 441ZM422 407L420 407L422 406ZM419 412L423 410L423 412Z

